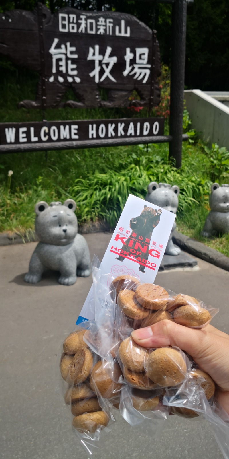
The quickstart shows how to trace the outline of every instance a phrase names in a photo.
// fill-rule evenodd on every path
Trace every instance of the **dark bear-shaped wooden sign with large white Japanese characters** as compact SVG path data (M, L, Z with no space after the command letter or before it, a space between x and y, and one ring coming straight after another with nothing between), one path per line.
M157 106L160 91L156 32L136 17L112 11L60 9L0 14L0 53L40 74L36 101L20 107ZM76 101L63 101L72 89Z

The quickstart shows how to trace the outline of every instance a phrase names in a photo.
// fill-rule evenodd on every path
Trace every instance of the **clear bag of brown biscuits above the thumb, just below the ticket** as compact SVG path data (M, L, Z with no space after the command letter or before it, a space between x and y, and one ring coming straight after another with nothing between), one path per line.
M130 276L119 276L112 285L116 289L117 305L134 326L146 327L168 319L191 328L202 328L209 324L218 312L201 300L173 291L160 285L128 280Z

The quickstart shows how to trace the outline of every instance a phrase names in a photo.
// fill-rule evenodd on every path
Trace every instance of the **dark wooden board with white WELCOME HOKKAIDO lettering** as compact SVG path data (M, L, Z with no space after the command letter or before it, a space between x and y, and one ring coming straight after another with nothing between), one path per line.
M164 118L0 123L0 152L129 145L164 135Z

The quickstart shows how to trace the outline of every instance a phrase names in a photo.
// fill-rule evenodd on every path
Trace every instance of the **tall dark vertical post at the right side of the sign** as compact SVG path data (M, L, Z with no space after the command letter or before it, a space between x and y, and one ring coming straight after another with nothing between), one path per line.
M184 83L185 83L185 39L187 1L175 0L172 6L172 57L170 88L169 161L175 160L181 167Z

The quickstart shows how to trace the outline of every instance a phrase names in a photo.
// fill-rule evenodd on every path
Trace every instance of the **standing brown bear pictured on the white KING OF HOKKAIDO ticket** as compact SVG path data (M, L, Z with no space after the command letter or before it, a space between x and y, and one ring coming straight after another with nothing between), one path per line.
M134 245L134 242L137 242L139 248L140 244L141 246L144 246L142 257L144 259L144 263L146 264L149 256L149 244L153 229L158 225L161 213L161 209L156 210L145 205L140 215L136 218L130 219L130 228L132 229L132 232L126 239L125 244L122 246L123 253L128 256L130 247ZM139 252L136 252L135 258L138 258L138 254ZM120 255L116 258L116 260L123 261L125 260L125 257ZM145 273L143 264L139 263L139 271Z

